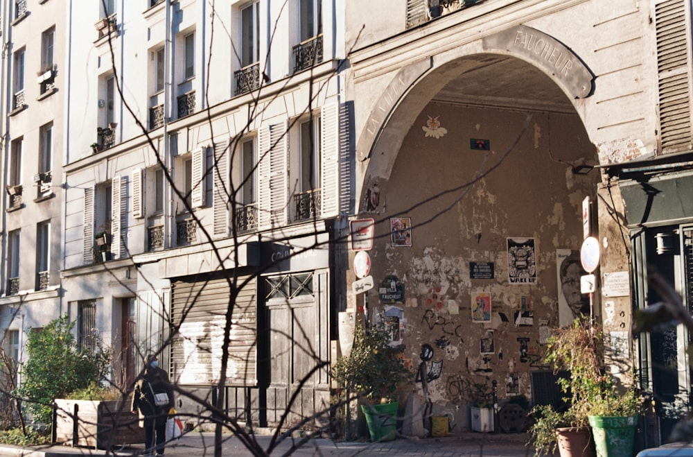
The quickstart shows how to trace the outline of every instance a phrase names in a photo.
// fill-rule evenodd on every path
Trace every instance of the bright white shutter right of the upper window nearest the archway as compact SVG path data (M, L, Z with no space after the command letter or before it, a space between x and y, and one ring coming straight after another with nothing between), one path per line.
M322 107L320 144L321 216L335 217L340 213L340 105Z

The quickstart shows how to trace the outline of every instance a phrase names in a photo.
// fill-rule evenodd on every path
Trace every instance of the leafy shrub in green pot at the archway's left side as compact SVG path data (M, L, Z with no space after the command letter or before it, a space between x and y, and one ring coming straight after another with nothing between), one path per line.
M358 395L373 441L396 438L397 390L413 379L403 363L404 347L390 345L392 332L386 327L381 322L365 329L357 323L351 353L332 368L333 378L344 388L344 402L352 399L351 393Z

